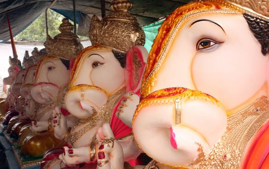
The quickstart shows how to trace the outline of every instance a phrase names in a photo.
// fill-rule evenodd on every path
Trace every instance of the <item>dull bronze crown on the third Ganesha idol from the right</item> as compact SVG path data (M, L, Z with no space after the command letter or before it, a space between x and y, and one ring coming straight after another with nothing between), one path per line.
M78 55L83 49L78 37L72 32L74 26L67 18L62 19L59 30L60 34L52 39L49 35L44 46L48 55L57 56L66 60Z

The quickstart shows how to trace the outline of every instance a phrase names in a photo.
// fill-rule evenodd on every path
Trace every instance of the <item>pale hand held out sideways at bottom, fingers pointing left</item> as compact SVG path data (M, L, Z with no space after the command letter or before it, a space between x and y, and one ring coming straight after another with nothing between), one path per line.
M77 164L90 162L90 147L83 146L79 148L63 147L64 153L59 155L62 162L68 167L75 167Z

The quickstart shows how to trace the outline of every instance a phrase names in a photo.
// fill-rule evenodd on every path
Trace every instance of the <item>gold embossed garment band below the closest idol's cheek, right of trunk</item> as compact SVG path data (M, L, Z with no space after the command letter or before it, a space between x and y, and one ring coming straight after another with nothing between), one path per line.
M258 107L256 107L258 106ZM238 169L245 148L256 131L269 118L269 102L263 96L242 111L228 117L228 130L209 155L195 169Z

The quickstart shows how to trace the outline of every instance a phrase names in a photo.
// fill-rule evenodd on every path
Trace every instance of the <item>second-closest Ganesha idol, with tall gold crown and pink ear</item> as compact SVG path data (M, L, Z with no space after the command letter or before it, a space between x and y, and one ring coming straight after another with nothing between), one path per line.
M137 94L148 52L141 46L145 43L144 31L128 13L131 6L128 0L114 0L110 5L112 13L102 21L92 18L89 34L93 46L76 58L65 99L67 110L79 121L68 129L63 117L55 115L55 136L67 140L68 146L61 151L48 151L43 157L43 169L96 168L102 138L95 135L104 123L111 125L125 161L141 153L127 125L139 103ZM130 110L124 109L127 105ZM52 159L57 154L59 158Z

